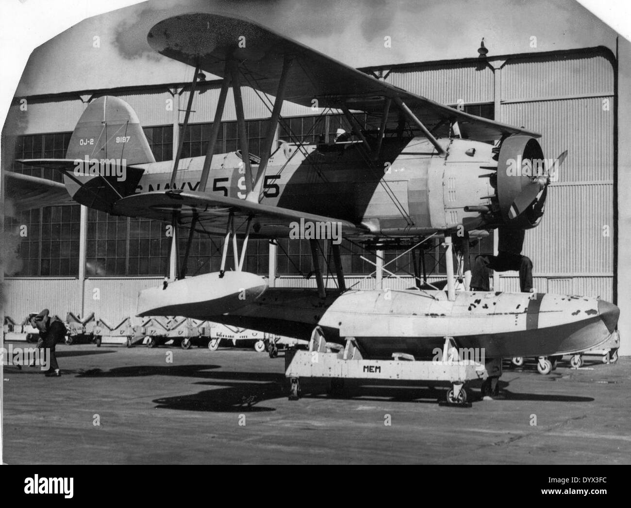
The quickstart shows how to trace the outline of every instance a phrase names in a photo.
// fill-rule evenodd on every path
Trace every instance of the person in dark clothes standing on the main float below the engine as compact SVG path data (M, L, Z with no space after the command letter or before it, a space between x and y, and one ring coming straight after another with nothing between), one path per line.
M524 293L533 290L533 262L521 255L524 245L523 229L500 229L497 256L478 256L471 274L471 291L490 291L488 277L490 270L519 272L519 286Z

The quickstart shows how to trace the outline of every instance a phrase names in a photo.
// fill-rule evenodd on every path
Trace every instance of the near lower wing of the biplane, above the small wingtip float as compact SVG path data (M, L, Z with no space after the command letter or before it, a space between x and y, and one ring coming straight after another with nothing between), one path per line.
M224 234L231 215L237 234L245 233L247 220L251 219L252 234L265 238L288 236L294 227L291 223L300 224L300 219L313 223L336 223L339 225L335 226L338 228L336 231L342 236L369 233L368 228L348 221L196 191L166 190L134 194L118 200L113 211L115 214L164 222L171 221L175 214L180 226L191 228L195 220L194 229L212 234Z

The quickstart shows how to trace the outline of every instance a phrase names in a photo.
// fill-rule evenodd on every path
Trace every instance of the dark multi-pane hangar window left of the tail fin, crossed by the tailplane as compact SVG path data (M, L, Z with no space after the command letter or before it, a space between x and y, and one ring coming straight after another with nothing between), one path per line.
M18 136L15 142L14 159L63 159L66 157L66 150L68 150L72 134L72 132L54 132L52 134ZM54 180L55 182L63 182L61 173L52 168L24 166L15 162L13 171L23 175L38 176L39 178Z

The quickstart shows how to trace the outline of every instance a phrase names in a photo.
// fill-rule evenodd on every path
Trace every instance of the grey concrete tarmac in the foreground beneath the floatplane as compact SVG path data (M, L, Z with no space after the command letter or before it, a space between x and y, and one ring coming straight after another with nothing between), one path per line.
M8 464L631 463L628 357L507 369L499 398L456 408L437 404L444 388L380 383L333 398L304 381L290 401L282 352L86 344L57 356L61 378L4 367Z

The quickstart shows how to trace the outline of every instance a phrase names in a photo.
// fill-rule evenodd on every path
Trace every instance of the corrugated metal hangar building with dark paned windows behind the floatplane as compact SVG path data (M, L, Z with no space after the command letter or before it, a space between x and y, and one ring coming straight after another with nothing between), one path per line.
M549 188L546 213L538 228L526 233L524 254L534 263L534 285L540 292L617 298L617 101L616 59L610 49L511 54L488 59L418 62L363 69L379 79L466 112L524 126L543 134L547 158L565 149L568 157L560 179ZM115 95L136 111L156 161L171 160L177 151L179 125L184 118L190 83L165 83L117 89L93 89L55 95L27 96L25 129L16 136L5 132L4 153L14 147L13 160L62 158L69 137L86 105L98 96ZM206 151L220 82L198 84L182 157ZM245 88L249 146L257 153L269 110L251 88ZM20 108L16 98L13 108ZM324 112L285 103L282 116L295 136L327 141L347 128L337 112ZM321 115L324 115L321 117ZM319 122L317 119L321 118ZM363 118L369 123L370 118ZM317 122L317 123L315 123ZM236 114L228 95L220 130L218 153L238 148ZM315 124L315 127L314 127ZM279 126L278 141L289 141ZM61 180L44 168L14 163L13 170ZM6 199L10 202L11 196ZM21 321L30 311L48 307L64 318L68 311L118 323L134 315L140 289L161 284L168 273L169 241L158 222L111 217L85 209L70 200L22 212L6 221L6 229L21 225L19 262L7 274L8 299L4 315ZM218 269L221 242L198 236L192 244L189 274ZM357 246L344 243L343 263L348 286L403 288L413 285L411 263L403 256L388 266L400 278L375 276L374 267L360 259ZM489 237L474 252L492 253ZM403 250L387 251L384 262ZM439 248L436 248L440 258ZM245 269L269 277L275 286L315 287L308 242L266 240L251 242ZM438 262L437 278L444 274ZM371 275L372 274L372 275ZM329 286L333 286L333 276ZM516 272L496 277L496 289L519 291ZM98 291L95 291L98 290ZM98 298L97 298L98 296ZM630 354L623 346L621 354Z

